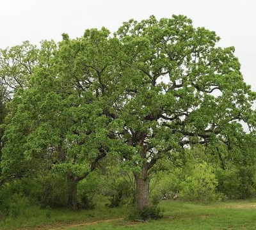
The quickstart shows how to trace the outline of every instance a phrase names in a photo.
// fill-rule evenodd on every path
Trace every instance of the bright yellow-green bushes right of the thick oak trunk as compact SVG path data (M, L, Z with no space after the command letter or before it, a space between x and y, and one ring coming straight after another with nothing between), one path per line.
M216 160L207 163L205 160L211 159L211 155L202 146L193 146L184 155L186 162L179 167L168 160L156 165L158 169L165 169L156 171L151 181L152 202L157 204L161 199L209 202L223 198L223 190L218 189L217 169L220 168Z

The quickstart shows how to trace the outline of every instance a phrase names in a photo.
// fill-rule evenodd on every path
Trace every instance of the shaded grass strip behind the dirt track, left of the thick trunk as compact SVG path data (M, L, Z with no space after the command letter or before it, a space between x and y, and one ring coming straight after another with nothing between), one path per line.
M104 205L106 203L108 203L108 199L102 200L102 197L100 197L100 201L97 201L97 206L95 206L94 210L79 211L40 209L37 206L31 206L22 211L19 217L9 217L2 222L0 221L0 229L47 229L49 226L57 227L74 222L92 222L95 220L125 217L127 210L129 210L126 206L108 208Z

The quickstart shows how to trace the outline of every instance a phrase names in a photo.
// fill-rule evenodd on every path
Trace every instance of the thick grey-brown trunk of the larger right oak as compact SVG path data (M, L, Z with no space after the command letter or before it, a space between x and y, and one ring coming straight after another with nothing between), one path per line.
M142 210L149 206L149 180L147 167L143 166L141 174L134 173L136 181L136 208Z

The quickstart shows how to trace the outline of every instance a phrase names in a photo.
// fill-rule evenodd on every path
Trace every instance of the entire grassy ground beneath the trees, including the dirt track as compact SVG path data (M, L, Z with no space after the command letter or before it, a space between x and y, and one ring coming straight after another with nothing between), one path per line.
M256 229L256 201L212 204L163 201L160 206L164 208L164 218L147 223L122 219L127 214L126 207L98 206L95 210L77 212L33 208L23 217L0 223L0 229Z

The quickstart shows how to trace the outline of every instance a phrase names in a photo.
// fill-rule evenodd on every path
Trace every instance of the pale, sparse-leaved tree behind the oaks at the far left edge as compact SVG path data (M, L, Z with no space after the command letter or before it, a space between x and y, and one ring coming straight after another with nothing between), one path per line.
M0 125L4 123L6 102L18 88L25 88L38 63L38 49L28 41L22 45L0 49ZM0 159L4 127L0 129ZM11 176L12 177L12 176ZM3 179L4 181L4 179Z

